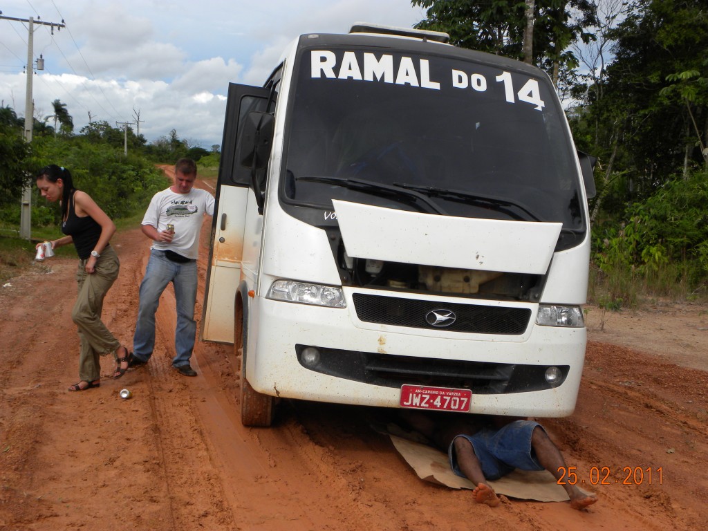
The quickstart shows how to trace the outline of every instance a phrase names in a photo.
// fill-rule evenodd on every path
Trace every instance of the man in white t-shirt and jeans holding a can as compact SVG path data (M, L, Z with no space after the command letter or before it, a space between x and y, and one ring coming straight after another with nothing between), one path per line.
M145 275L140 283L140 304L133 336L130 367L144 365L155 346L155 312L160 296L172 282L177 306L175 357L172 366L185 376L196 376L190 365L197 323L197 258L204 215L214 215L214 196L194 188L197 165L179 159L175 182L156 193L142 220L142 232L153 244Z

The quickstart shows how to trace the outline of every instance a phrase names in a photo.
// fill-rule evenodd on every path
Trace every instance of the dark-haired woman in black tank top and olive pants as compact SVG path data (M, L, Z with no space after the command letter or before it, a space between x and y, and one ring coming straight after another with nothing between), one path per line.
M115 233L115 224L96 205L91 196L74 188L69 170L51 164L37 176L42 197L62 205L62 238L52 241L52 247L74 244L79 254L76 281L79 295L72 311L72 320L79 329L79 382L69 391L84 391L101 385L100 356L113 353L113 378L125 374L130 353L120 344L101 321L103 299L118 278L118 255L108 244Z

